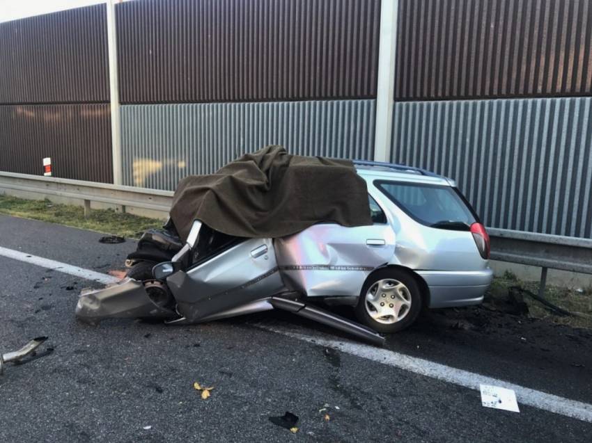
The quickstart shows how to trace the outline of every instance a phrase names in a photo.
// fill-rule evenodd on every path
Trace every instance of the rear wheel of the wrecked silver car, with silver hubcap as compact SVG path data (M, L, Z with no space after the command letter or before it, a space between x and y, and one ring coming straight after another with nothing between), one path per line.
M409 327L421 305L421 290L414 277L401 269L385 268L372 273L364 283L356 315L373 330L392 334Z

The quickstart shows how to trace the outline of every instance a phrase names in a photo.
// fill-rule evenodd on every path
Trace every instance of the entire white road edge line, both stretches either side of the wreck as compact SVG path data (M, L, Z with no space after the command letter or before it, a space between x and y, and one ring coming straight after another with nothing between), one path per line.
M118 282L119 280L116 277L111 277L111 275L98 273L91 271L90 269L79 268L78 266L72 266L70 264L62 263L61 261L45 259L36 255L27 254L26 252L3 248L2 246L0 246L0 256L24 261L25 263L41 266L42 268L54 269L55 271L75 275L76 277L81 277L86 280L95 280L103 284L111 284ZM325 339L320 336L311 337L290 330L270 328L263 324L254 324L254 326L277 334L286 335L287 337L306 341L311 344L316 344L318 346L332 348L343 353L355 355L356 357L365 358L366 360L387 364L388 366L404 369L405 371L417 373L422 376L474 389L476 391L479 391L480 385L494 385L505 387L506 389L513 389L518 401L524 405L533 406L534 408L592 423L592 405L589 403L547 394L546 392L537 391L536 389L514 385L513 383L504 380L498 380L497 378L482 376L478 373L449 367L445 364L424 360L423 358L411 357L410 355L400 354L395 351L389 351L388 349L376 348L375 346L368 346L352 341Z

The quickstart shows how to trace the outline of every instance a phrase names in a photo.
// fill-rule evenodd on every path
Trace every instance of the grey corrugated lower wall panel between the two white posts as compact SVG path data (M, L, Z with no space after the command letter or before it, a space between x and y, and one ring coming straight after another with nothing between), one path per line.
M124 184L174 189L245 152L372 159L375 100L124 105Z

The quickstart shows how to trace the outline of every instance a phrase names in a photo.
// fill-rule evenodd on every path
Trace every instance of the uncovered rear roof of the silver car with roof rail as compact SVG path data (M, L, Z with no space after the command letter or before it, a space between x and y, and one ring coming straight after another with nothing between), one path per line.
M441 184L444 186L455 186L455 182L442 175L434 174L419 168L396 165L393 163L357 163L354 161L358 175L369 179L396 180L398 182L415 182L426 184Z

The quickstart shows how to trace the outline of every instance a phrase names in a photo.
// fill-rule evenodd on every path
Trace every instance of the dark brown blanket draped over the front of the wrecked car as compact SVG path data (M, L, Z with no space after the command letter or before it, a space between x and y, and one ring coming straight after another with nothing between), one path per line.
M290 155L280 146L182 179L171 219L183 241L193 220L251 238L295 234L320 222L372 224L366 182L351 161Z

